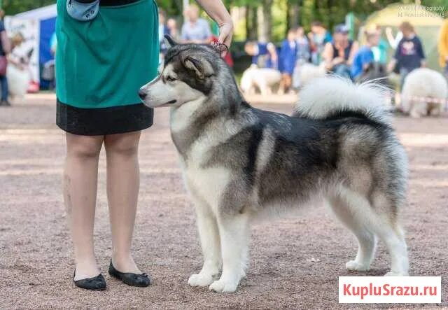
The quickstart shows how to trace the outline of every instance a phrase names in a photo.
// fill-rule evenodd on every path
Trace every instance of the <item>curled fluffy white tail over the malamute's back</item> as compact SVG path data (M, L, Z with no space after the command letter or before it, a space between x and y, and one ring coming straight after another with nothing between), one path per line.
M386 105L389 92L388 88L372 82L353 84L351 80L337 76L316 78L300 91L294 115L321 120L357 113L375 122L389 124L391 111Z

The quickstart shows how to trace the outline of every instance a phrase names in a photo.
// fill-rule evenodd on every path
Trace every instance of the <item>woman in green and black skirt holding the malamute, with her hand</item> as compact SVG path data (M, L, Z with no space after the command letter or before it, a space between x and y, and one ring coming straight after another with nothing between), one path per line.
M230 45L232 21L221 1L198 0ZM157 75L158 8L153 0L57 0L57 125L66 132L64 202L80 288L104 290L94 255L99 153L107 159L113 251L109 274L130 286L150 280L132 259L139 193L138 146L153 110L138 90Z

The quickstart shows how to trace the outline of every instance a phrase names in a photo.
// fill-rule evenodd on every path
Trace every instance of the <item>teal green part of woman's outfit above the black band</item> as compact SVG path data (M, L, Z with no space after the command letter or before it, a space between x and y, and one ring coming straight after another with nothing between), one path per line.
M158 8L153 0L100 6L80 22L57 0L57 99L78 108L140 104L139 88L157 76Z

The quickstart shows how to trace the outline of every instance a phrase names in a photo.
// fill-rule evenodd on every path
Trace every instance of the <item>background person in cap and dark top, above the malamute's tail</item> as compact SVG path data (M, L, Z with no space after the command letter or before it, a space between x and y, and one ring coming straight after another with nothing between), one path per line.
M351 78L350 67L358 51L358 42L349 40L349 31L345 24L336 26L333 41L325 44L323 60L325 68L337 76Z

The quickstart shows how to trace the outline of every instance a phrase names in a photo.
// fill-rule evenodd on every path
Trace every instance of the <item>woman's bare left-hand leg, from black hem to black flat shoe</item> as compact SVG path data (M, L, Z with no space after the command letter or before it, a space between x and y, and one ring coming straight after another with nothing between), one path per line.
M103 136L66 133L64 202L76 265L75 280L99 274L93 247L93 224L97 200L98 157Z

